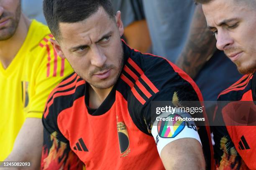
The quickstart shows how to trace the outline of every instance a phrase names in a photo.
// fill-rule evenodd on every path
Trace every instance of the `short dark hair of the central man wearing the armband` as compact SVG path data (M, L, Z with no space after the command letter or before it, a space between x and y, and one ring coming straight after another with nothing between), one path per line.
M51 33L59 39L59 23L85 20L96 13L99 7L103 7L110 18L114 18L110 0L44 0L44 16Z

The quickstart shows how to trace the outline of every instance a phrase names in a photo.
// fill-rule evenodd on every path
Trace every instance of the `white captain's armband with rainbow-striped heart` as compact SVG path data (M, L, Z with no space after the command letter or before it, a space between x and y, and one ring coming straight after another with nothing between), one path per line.
M202 145L195 123L193 121L182 120L182 117L184 116L190 117L188 113L174 113L166 117L164 115L167 115L167 113L162 113L162 118L155 120L151 129L151 133L156 141L159 155L161 155L162 149L168 143L177 139L194 138Z

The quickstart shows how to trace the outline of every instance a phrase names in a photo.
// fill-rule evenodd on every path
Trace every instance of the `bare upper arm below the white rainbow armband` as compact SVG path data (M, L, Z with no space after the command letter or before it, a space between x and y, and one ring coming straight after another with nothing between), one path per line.
M174 140L161 151L166 170L205 170L202 145L194 138Z

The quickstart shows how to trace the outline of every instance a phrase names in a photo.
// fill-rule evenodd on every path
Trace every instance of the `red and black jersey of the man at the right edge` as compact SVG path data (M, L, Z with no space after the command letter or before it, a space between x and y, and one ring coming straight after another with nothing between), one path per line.
M256 169L255 90L256 76L248 74L218 97L214 121L225 124L213 128L215 162L220 169Z

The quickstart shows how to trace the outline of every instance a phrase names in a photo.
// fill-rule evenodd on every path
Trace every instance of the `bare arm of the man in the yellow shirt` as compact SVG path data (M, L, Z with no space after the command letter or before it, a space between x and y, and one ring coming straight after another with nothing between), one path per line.
M13 150L5 161L30 162L31 166L23 167L28 170L40 169L43 146L43 125L38 118L26 118L20 129ZM10 168L7 168L8 170ZM17 169L22 169L19 167Z

